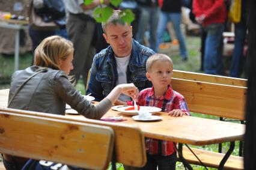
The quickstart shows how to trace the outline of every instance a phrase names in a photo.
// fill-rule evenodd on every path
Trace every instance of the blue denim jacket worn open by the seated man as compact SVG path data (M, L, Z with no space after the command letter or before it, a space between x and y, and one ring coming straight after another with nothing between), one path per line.
M152 87L152 83L145 75L148 57L155 52L137 41L132 40L132 53L126 70L127 83L134 83L139 91ZM96 101L108 96L117 83L117 63L111 46L97 53L93 58L91 77L87 94L95 97Z

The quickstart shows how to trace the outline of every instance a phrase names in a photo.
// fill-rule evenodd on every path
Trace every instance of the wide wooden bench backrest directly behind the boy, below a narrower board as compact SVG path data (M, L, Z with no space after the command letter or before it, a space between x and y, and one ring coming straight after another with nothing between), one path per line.
M175 78L171 85L184 96L189 111L245 120L245 87Z

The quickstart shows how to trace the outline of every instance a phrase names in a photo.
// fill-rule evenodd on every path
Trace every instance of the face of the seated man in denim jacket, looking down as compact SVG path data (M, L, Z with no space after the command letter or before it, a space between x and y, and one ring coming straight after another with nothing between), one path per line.
M124 57L132 52L132 26L127 23L107 25L103 37L111 45L115 56Z

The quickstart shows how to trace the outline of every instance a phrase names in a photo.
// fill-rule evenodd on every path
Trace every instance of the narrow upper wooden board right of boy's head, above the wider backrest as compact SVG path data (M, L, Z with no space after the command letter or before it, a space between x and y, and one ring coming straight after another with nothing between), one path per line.
M173 77L177 79L195 80L199 82L247 87L247 79L239 79L234 77L216 76L211 74L194 73L180 70L173 70Z

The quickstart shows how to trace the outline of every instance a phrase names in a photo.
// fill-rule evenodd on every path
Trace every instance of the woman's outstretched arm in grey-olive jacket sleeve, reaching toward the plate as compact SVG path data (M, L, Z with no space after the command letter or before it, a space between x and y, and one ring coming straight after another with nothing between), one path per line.
M61 71L57 76L56 93L61 99L70 105L73 109L78 111L79 114L84 115L86 118L99 120L111 108L115 100L118 99L121 93L124 93L132 98L138 95L138 89L133 85L121 84L115 87L105 99L100 101L97 106L91 104L86 100L76 89L72 83L69 82L67 76Z

